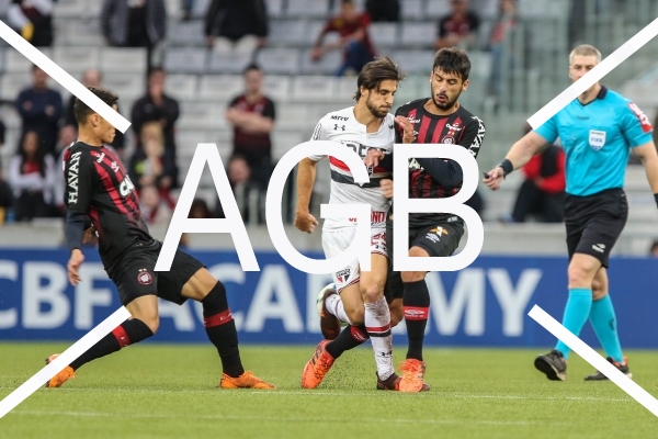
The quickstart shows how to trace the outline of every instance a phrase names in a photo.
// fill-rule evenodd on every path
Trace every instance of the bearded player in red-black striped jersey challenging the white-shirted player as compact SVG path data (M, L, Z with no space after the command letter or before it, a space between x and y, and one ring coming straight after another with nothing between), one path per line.
M468 88L470 60L463 50L442 48L434 56L430 74L431 98L411 101L396 111L396 144L452 144L468 149L474 157L485 137L485 124L460 104ZM399 146L398 146L399 147ZM395 148L394 148L395 154ZM394 176L407 178L407 176ZM409 198L449 198L460 191L463 172L454 160L416 158L409 161ZM382 181L387 196L393 196L393 181ZM394 206L395 207L395 202ZM387 221L387 246L393 255L393 209ZM446 257L458 247L464 222L450 213L409 214L409 256ZM430 308L426 271L389 271L386 294L392 314L402 305L409 348L402 365L402 392L419 392L426 365L422 342ZM401 302L401 303L400 303ZM398 311L396 311L396 308Z

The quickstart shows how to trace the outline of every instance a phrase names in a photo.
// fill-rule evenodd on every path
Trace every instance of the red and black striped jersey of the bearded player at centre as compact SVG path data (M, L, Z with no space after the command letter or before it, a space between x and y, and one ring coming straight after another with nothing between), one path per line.
M424 109L428 98L408 102L397 109L395 115L402 115L413 124L415 144L454 144L460 145L477 158L485 138L485 124L463 106L450 115L436 115ZM402 130L396 130L396 144L402 143ZM398 146L399 147L399 146ZM395 153L395 150L394 150ZM458 165L457 165L458 166ZM395 177L394 177L395 178ZM460 191L460 182L453 188L444 188L434 180L416 159L409 160L409 198L436 199L452 196ZM409 226L423 227L436 225L436 222L457 221L453 214L410 213ZM460 219L461 221L461 219Z

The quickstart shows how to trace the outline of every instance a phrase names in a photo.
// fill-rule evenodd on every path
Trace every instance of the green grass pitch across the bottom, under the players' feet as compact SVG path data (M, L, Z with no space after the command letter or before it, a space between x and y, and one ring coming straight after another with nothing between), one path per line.
M0 398L67 345L0 344ZM134 346L42 389L0 419L0 438L658 438L658 418L572 354L567 382L534 370L543 349L427 349L431 391L375 390L370 345L347 352L315 391L299 386L314 347L242 346L276 391L217 389L212 346ZM401 360L404 347L396 350ZM658 352L627 351L658 394Z

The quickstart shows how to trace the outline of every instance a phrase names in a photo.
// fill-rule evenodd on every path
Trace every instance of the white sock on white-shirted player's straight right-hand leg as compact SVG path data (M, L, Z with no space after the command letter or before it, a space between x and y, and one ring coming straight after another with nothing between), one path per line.
M365 329L373 344L377 375L379 380L387 380L395 369L393 368L393 336L390 335L390 311L386 299L382 297L375 303L365 304Z

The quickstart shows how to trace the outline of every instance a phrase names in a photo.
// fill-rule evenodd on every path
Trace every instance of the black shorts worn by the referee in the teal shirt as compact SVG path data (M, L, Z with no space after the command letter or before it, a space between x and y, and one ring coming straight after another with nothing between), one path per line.
M585 254L608 268L610 252L627 217L628 202L622 189L609 189L589 196L568 195L565 223L569 260L574 254Z

